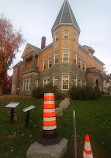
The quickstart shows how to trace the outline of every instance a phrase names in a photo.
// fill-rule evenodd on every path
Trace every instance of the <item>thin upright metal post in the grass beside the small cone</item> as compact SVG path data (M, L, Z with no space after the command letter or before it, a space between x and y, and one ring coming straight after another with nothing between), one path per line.
M77 158L77 140L76 140L75 110L73 111L73 131L74 131L74 158Z

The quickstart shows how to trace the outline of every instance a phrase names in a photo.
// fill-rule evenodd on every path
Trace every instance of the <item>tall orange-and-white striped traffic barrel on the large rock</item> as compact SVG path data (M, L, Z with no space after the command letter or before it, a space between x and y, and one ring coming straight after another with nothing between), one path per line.
M43 137L56 137L56 128L54 93L44 93Z

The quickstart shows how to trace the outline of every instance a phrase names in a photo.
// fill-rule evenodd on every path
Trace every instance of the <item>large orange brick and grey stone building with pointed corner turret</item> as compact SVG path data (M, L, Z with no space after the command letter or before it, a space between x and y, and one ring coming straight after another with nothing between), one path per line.
M79 44L80 28L68 0L65 0L51 29L53 42L41 49L27 43L23 61L13 68L12 94L31 95L32 90L48 83L66 92L71 86L92 86L106 91L104 63L95 50Z

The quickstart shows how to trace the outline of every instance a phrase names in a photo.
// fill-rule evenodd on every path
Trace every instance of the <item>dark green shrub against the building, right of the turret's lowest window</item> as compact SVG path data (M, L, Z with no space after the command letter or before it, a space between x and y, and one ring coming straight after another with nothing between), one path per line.
M94 90L92 87L71 87L69 90L69 96L71 99L77 99L77 100L90 100L90 99L96 99L97 97L100 97L100 91Z

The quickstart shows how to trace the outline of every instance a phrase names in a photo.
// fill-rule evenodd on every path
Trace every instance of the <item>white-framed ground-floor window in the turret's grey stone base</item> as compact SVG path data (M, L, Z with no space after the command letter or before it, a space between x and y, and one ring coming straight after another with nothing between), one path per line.
M62 90L69 89L69 75L62 75Z

